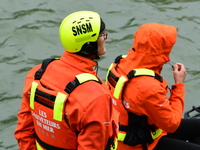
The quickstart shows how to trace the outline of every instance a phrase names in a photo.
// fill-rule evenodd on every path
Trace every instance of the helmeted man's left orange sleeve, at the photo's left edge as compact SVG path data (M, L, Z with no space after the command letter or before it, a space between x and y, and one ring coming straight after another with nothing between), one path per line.
M14 131L14 136L18 142L20 150L36 150L35 130L29 106L29 89L30 86L26 80L22 95L21 107L17 116L18 123Z

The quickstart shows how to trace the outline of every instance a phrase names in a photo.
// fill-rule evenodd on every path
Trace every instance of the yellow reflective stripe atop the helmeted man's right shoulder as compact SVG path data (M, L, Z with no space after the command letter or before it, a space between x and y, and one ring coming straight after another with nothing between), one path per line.
M99 81L99 79L90 73L81 73L79 75L76 75L76 78L78 79L78 81L81 83L84 83L85 81L89 81L89 80L95 80L95 81Z

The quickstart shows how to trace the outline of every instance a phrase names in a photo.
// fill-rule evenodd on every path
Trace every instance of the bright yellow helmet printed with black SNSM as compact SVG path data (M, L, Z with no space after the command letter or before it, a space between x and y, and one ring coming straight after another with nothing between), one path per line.
M98 13L92 11L72 13L64 18L60 25L61 43L66 51L79 52L85 43L98 40L100 28L101 18Z

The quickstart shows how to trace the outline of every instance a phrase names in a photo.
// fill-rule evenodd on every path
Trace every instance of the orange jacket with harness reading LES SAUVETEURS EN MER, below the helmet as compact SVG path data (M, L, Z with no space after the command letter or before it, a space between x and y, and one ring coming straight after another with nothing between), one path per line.
M65 52L60 60L47 59L29 72L15 130L20 149L102 150L114 145L117 117L94 64Z

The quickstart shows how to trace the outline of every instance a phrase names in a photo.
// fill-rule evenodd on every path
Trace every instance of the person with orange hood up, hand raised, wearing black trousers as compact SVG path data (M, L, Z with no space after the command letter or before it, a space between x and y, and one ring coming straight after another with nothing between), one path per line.
M106 83L120 112L118 150L200 149L200 120L182 119L184 65L173 66L175 83L169 97L167 81L161 76L176 36L173 26L143 24L128 54L110 65Z

